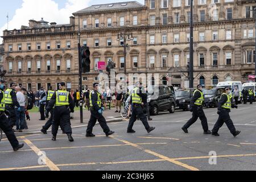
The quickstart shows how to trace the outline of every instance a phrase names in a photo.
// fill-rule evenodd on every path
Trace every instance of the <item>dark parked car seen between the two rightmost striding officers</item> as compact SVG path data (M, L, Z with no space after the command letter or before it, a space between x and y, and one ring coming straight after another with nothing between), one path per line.
M224 87L218 87L213 89L204 90L204 106L205 107L217 107Z

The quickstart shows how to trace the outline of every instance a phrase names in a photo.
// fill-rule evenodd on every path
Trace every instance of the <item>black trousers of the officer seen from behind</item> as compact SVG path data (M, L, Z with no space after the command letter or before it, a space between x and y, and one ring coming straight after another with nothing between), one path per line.
M59 126L65 134L72 134L68 106L55 106L53 110L52 135L57 135Z

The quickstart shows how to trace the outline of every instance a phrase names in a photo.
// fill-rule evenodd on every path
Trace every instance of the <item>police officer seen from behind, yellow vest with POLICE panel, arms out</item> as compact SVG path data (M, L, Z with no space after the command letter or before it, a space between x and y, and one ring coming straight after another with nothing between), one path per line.
M75 105L71 95L65 88L64 82L59 84L59 90L52 95L52 98L46 107L48 113L51 111L53 106L52 140L56 140L60 126L63 132L67 134L69 142L73 142L74 139L72 137L70 111L74 110Z

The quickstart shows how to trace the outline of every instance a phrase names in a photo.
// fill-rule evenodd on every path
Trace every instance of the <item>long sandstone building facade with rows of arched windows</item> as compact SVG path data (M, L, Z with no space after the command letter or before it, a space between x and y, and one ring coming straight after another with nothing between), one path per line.
M212 4L214 3L214 4ZM217 85L242 81L254 74L255 1L194 0L194 84ZM93 5L77 11L69 24L30 20L21 30L4 31L7 81L35 90L65 81L77 89L78 32L82 46L90 47L91 71L84 87L98 76L98 61L113 60L116 72L152 74L161 84L188 86L190 0L146 0ZM29 48L30 47L30 48ZM154 77L158 73L159 77Z

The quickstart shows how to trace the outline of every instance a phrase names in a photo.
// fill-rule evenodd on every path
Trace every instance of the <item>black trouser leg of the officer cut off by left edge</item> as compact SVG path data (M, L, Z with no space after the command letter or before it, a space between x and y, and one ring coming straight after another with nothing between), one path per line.
M8 119L6 118L6 115L3 113L0 113L0 128L3 130L3 132L6 134L7 139L11 143L11 146L13 148L16 148L19 146L19 142L17 138L15 137L15 134L13 132L13 129L9 125Z

